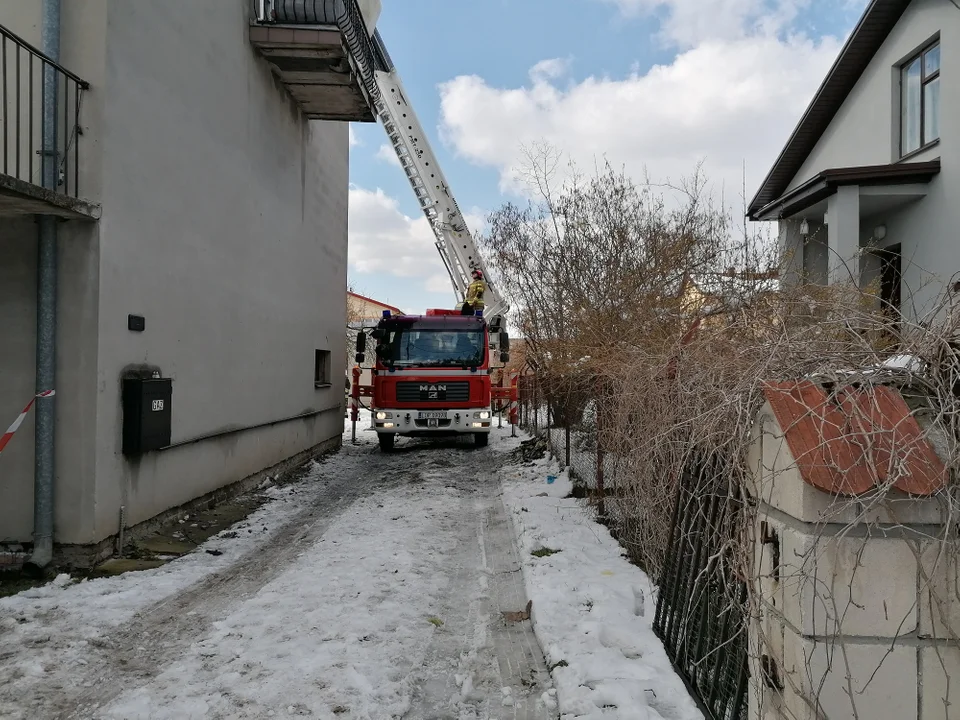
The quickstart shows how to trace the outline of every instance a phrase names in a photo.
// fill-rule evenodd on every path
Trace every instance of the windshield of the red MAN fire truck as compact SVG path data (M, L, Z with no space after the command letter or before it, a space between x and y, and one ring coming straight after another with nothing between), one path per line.
M478 366L483 363L482 329L426 329L416 324L388 329L380 351L387 365Z

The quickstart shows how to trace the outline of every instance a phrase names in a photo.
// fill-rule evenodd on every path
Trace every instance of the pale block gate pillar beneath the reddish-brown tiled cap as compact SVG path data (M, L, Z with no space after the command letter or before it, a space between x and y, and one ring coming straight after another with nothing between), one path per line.
M769 404L748 458L750 720L960 718L957 546L934 539L941 501L818 490Z

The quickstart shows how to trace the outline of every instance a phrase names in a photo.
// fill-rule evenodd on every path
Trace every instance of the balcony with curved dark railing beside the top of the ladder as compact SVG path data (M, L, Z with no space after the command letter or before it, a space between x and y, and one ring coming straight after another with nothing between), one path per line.
M373 44L357 0L255 0L250 42L308 118L376 121Z

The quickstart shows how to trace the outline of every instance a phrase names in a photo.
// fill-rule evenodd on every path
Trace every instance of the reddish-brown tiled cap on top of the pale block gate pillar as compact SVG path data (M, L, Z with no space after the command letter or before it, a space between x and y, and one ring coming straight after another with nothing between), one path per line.
M896 389L841 388L828 398L821 385L793 380L765 382L763 391L810 485L859 495L892 479L924 496L946 485L946 466Z

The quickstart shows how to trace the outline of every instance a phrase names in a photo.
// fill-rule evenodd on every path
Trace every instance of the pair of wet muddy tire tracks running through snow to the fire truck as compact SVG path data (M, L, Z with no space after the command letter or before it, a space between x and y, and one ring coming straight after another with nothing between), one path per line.
M118 709L114 701L126 702L138 692L159 700L156 693L163 682L158 684L158 677L171 665L196 655L197 641L215 635L216 623L240 610L305 550L321 542L330 525L357 500L415 485L425 506L437 493L448 493L457 502L450 505L451 521L444 523L453 528L452 534L443 532L445 550L451 552L437 553L438 566L431 571L434 580L421 576L428 582L446 579L440 603L445 626L425 637L423 644L405 646L403 662L395 658L393 675L407 674L403 684L415 688L414 710L405 717L549 717L536 703L549 675L532 628L529 623L506 627L500 618L500 610L517 610L525 604L522 574L496 479L504 460L490 450L474 451L457 443L404 442L387 455L369 441L360 447L345 446L341 454L323 463L319 474L326 486L312 494L304 492L307 506L288 516L264 543L186 590L142 609L120 629L107 630L90 648L86 665L51 669L49 677L38 677L12 701L0 691L0 706L24 711L13 717L68 720L95 718L104 712L113 715ZM424 555L432 554L427 552L431 539L425 536L424 540ZM133 576L130 582L136 582ZM61 640L64 646L75 639L67 635ZM277 641L282 644L283 638ZM421 663L425 653L427 662ZM193 667L190 662L188 666ZM410 671L409 663L417 670ZM204 687L203 678L215 677L221 665L217 657L204 659L197 666L200 676L193 678L194 695L186 690L177 695L174 688L175 699L197 697L198 688L201 695L214 693L212 685ZM49 682L51 678L55 682ZM259 679L249 677L247 682L256 686ZM261 680L268 681L269 677ZM505 686L511 688L512 707L502 703L501 687ZM463 702L463 690L470 702ZM243 717L259 716L244 711Z

